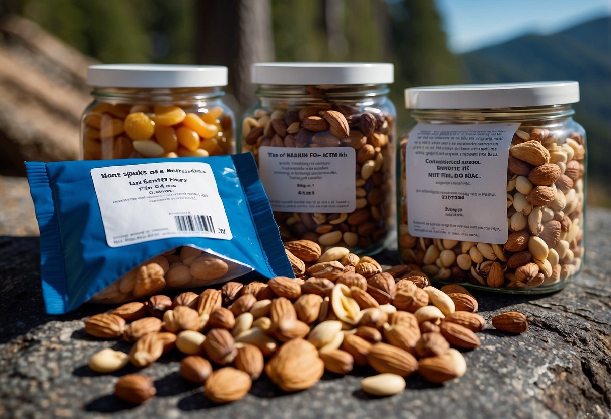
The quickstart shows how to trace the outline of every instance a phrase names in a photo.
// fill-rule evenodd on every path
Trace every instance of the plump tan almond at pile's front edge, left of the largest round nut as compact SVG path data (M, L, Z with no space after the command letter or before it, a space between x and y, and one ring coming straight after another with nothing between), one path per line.
M247 373L225 366L210 374L203 388L203 395L214 403L224 404L240 400L251 387L251 377Z

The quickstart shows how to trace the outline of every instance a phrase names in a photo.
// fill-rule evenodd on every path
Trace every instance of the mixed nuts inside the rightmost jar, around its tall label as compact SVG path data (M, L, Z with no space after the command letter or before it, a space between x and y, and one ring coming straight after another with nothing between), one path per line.
M432 279L491 288L532 288L565 282L584 253L584 137L521 126L510 145L505 244L430 239L409 234L405 151L401 142L402 210L399 252Z

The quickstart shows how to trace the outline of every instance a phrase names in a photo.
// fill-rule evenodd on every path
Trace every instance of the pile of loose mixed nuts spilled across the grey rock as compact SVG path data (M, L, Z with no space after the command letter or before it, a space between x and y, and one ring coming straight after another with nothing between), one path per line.
M435 383L466 372L456 348L480 346L477 332L486 321L465 288L437 289L414 265L383 271L373 258L348 249L323 253L307 240L286 247L297 279L226 282L220 290L174 299L158 294L91 316L85 332L134 345L129 354L103 349L90 368L110 373L128 362L145 368L177 348L185 354L181 376L203 384L214 403L243 398L264 371L280 389L296 392L315 385L324 371L370 366L379 375L363 379L361 388L375 396L403 391L404 377L415 372ZM493 319L510 333L524 332L528 322L516 312ZM129 374L117 381L115 395L142 403L155 387L144 374Z

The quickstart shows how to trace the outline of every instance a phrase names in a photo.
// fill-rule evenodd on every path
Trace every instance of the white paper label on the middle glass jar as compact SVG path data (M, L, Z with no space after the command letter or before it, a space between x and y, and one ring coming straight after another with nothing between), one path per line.
M259 175L274 211L354 211L355 168L352 147L259 149Z

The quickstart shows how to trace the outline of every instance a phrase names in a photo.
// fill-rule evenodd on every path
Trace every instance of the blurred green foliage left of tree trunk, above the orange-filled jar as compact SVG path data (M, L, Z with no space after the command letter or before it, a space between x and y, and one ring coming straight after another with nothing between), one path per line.
M84 54L104 63L188 63L193 0L4 0Z

